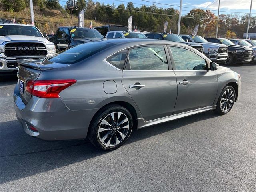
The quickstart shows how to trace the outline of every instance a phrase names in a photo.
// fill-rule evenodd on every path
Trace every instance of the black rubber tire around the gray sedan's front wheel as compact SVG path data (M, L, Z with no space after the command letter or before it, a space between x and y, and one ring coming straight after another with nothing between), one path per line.
M226 92L227 90L232 90L232 92L233 92L233 98L232 98L232 96L228 96L228 98L226 98L226 99L228 99L228 101L225 101L225 100L222 100L222 96L224 96L224 92ZM226 94L226 93L225 93ZM232 102L232 104L230 104L231 102L229 101L229 99L230 100L233 100L233 102ZM232 107L234 106L234 102L235 102L235 100L236 100L236 92L235 92L235 89L232 87L232 86L226 86L226 87L224 87L224 89L222 90L222 92L220 93L220 96L219 96L219 99L218 99L218 102L217 102L217 107L216 107L216 109L214 109L213 111L214 112L216 112L216 113L218 113L218 114L221 114L221 115L224 115L224 114L227 114L228 112L230 112L230 110L232 109ZM225 103L226 103L226 105L228 106L229 105L229 108L227 109L226 108L226 110L224 110L225 108ZM223 109L224 108L224 109Z

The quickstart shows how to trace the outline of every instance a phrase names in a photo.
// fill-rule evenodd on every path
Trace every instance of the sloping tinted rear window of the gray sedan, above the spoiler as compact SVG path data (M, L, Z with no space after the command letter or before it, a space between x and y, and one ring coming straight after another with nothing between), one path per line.
M54 63L74 64L112 46L106 42L89 42L69 48L46 60Z

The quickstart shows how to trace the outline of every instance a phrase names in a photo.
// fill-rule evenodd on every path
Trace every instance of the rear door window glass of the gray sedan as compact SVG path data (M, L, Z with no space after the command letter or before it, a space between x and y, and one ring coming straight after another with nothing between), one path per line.
M131 49L126 69L168 70L164 46L145 46Z

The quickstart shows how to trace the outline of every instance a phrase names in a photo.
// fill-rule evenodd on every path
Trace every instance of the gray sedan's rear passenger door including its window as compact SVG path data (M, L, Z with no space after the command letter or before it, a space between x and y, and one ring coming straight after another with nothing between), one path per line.
M149 121L173 114L177 97L176 76L165 45L130 48L122 84Z

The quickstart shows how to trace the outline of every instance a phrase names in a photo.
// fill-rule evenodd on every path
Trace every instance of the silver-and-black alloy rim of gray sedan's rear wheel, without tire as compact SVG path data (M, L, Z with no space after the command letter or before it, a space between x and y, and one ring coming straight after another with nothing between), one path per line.
M112 112L101 122L98 138L105 146L116 146L126 138L130 128L127 116L122 112Z

